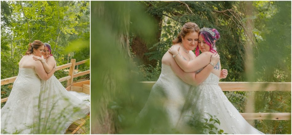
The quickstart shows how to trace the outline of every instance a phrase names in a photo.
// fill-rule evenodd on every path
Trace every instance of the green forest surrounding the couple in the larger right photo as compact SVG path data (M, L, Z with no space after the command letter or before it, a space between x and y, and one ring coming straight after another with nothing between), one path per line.
M219 31L217 51L228 70L220 81L291 82L291 2L91 2L91 11L92 75L97 76L91 85L91 133L175 133L157 110L136 122L150 93L137 81L158 79L161 58L185 22ZM239 112L251 94L255 112L291 112L291 91L224 93ZM149 130L153 118L161 130ZM251 123L266 134L291 133L291 120Z

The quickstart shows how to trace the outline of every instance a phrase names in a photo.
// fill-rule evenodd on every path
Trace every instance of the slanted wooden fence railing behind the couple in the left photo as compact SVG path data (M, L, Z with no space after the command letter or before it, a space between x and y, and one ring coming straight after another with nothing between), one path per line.
M80 65L80 64L84 64L84 63L86 63L88 61L90 61L90 59L82 60L82 61L79 61L79 62L76 62L75 59L71 59L71 62L70 63L64 64L64 65L61 65L61 66L57 66L57 70L61 70L61 69L65 69L65 68L70 67L69 68L69 75L60 78L59 81L60 82L63 82L63 81L68 80L67 81L67 87L69 87L73 83L73 78L76 78L76 77L79 77L79 76L82 76L82 75L86 75L86 74L90 74L90 70L82 71L82 72L79 72L79 73L74 74L75 66ZM5 84L13 83L15 81L16 77L17 76L10 77L10 78L6 78L6 79L1 79L1 86L2 85L5 85ZM1 99L1 103L2 102L6 102L7 101L7 98L8 97L2 98Z

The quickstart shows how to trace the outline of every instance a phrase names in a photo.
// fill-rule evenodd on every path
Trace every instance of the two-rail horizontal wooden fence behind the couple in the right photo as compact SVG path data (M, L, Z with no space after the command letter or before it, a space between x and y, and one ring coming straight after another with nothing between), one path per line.
M140 82L151 90L156 82ZM291 83L219 82L222 91L291 91ZM291 120L291 113L240 113L246 120Z

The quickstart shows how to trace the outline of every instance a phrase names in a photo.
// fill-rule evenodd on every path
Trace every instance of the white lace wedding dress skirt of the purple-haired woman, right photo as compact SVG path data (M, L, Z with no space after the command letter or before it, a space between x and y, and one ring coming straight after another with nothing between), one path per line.
M211 73L208 78L197 87L191 87L184 112L177 128L186 129L187 124L194 117L196 120L205 122L202 118L211 118L208 114L216 116L220 125L215 123L219 129L228 134L263 134L251 126L239 113L239 111L228 101L222 89L218 85L219 77ZM197 114L202 114L200 117Z

